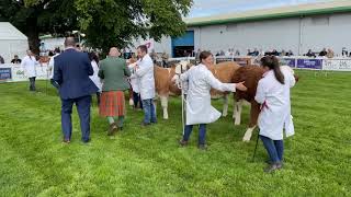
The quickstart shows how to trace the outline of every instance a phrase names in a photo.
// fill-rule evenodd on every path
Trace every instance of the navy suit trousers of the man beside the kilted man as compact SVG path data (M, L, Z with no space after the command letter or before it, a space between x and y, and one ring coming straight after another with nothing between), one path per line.
M82 96L78 99L61 100L61 126L64 138L70 140L72 134L72 106L76 104L81 129L81 140L83 142L90 139L90 106L91 95Z

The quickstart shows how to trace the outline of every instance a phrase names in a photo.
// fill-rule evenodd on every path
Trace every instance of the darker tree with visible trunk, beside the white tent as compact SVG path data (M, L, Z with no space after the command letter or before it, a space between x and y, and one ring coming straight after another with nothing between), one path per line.
M64 35L78 27L72 0L0 0L0 20L9 21L29 37L35 53L39 34Z

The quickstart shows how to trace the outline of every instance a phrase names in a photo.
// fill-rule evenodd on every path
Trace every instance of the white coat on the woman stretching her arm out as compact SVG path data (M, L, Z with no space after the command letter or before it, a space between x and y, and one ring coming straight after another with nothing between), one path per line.
M220 117L211 105L211 88L235 92L235 83L222 83L204 65L192 67L181 74L180 80L189 83L186 95L186 125L210 124Z

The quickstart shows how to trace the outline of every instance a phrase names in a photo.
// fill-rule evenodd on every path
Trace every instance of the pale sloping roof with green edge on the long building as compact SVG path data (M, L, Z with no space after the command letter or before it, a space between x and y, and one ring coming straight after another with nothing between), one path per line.
M280 7L274 9L252 10L230 14L220 14L205 18L184 19L188 26L205 26L226 23L239 23L270 19L285 19L332 13L351 12L351 0L333 0L319 3Z

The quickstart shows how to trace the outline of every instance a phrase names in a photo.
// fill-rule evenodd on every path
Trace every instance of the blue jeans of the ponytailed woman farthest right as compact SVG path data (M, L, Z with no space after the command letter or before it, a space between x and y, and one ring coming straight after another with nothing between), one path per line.
M270 155L272 163L279 163L283 161L284 142L283 140L272 140L271 138L260 136L263 146Z

